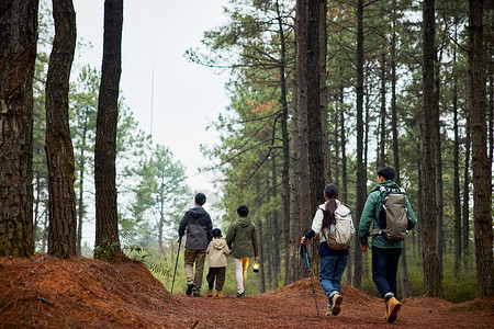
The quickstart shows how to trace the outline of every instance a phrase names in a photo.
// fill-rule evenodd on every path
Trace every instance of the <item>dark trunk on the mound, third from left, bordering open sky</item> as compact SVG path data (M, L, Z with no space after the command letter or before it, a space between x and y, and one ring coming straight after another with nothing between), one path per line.
M105 0L103 63L94 146L96 246L101 246L105 240L120 241L115 157L122 71L122 24L123 0Z

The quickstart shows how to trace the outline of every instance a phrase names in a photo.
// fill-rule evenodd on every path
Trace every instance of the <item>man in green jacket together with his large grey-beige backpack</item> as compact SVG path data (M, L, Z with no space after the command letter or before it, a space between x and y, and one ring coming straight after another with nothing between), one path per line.
M386 305L384 319L392 324L401 308L396 299L396 272L405 235L417 223L405 191L394 181L394 170L378 170L378 184L367 198L360 217L360 249L366 252L372 237L372 280ZM369 229L372 224L372 230Z

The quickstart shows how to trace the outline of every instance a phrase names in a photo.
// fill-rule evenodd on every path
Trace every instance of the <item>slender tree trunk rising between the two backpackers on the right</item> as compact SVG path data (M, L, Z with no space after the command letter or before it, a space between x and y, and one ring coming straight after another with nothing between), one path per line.
M357 184L356 184L356 220L359 227L366 202L367 183L364 181L363 166L363 0L357 5ZM355 245L360 246L358 235L355 235ZM353 286L360 288L362 276L362 253L359 248L353 249Z

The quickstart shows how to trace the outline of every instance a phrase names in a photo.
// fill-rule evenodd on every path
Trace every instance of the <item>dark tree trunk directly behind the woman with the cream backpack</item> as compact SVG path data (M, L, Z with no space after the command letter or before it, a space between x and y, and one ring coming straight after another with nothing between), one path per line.
M318 0L308 0L307 15L307 43L306 43L306 70L305 81L307 83L307 146L308 146L308 213L305 227L312 225L312 215L317 206L324 203L324 159L323 159L323 123L321 122L321 39L319 19L321 5ZM325 126L327 126L325 124ZM326 131L326 129L325 129ZM313 272L318 272L318 245L317 239L311 241L311 259L314 265Z

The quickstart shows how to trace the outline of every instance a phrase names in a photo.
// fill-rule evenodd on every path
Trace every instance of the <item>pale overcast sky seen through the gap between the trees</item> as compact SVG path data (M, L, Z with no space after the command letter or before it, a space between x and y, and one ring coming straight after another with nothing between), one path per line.
M224 83L210 68L189 63L183 54L200 46L203 33L224 21L227 0L124 0L121 90L125 103L153 140L166 145L187 167L192 190L212 190L212 173L198 174L207 163L201 144L216 144L205 131L228 103ZM77 34L92 49L75 65L101 69L104 0L75 0ZM154 68L154 69L153 69ZM153 75L154 71L154 75ZM154 79L153 79L154 76ZM72 77L74 78L74 77ZM151 84L154 106L151 129Z

